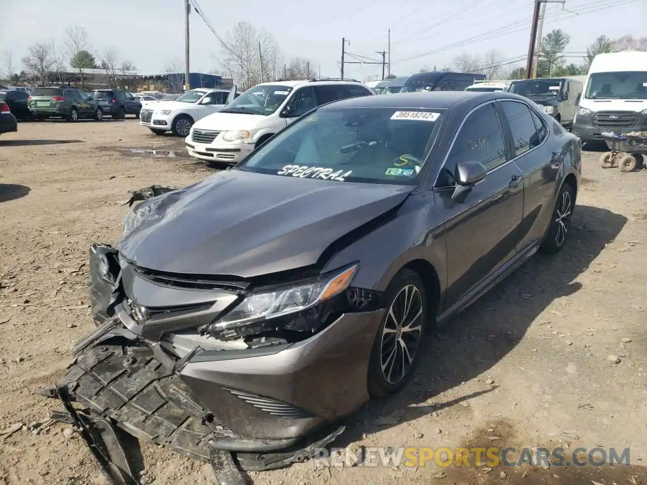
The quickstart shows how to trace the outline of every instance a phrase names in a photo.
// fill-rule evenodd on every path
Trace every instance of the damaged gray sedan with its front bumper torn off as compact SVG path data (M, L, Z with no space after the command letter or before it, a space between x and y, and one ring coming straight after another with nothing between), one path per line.
M323 105L93 246L98 329L46 394L115 482L124 431L223 484L307 459L433 325L564 247L579 178L579 140L513 94Z

